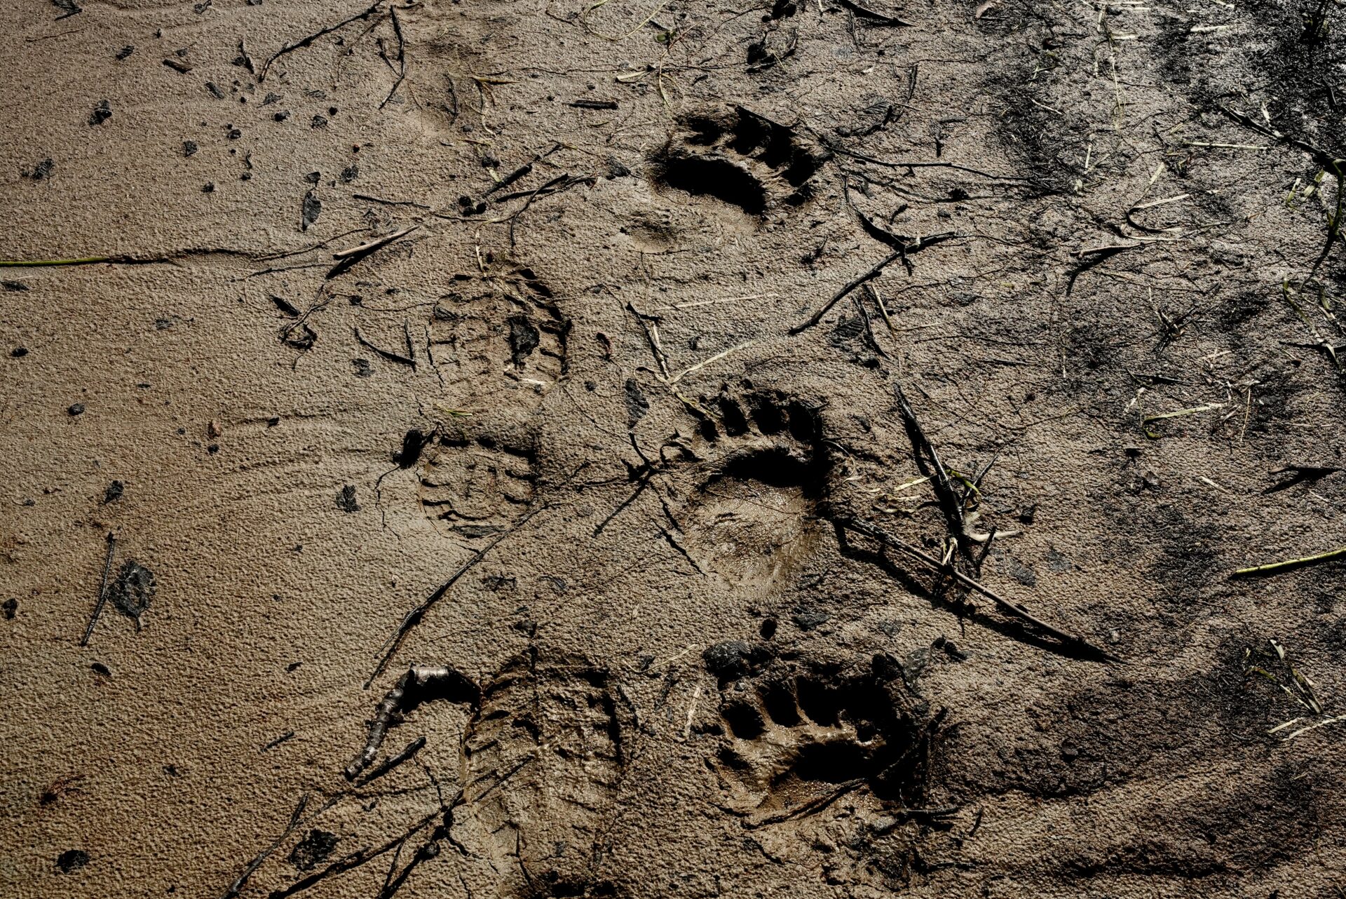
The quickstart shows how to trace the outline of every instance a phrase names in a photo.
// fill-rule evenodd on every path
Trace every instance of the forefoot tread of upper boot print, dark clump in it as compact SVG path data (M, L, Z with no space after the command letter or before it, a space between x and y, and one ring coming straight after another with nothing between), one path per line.
M447 400L536 409L565 374L569 327L551 288L529 268L456 276L429 322L429 350Z

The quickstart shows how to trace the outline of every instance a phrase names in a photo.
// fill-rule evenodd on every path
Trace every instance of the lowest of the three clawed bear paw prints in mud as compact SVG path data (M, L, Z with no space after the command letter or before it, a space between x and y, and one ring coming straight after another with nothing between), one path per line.
M715 767L730 810L752 825L817 812L852 791L919 805L927 728L884 657L861 670L775 662L723 690L719 717L725 736Z

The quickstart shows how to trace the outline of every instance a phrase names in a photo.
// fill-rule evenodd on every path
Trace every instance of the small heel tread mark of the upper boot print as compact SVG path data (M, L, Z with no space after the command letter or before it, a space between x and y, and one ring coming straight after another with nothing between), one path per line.
M481 541L509 530L533 503L533 452L494 437L440 433L420 456L421 511L444 534Z

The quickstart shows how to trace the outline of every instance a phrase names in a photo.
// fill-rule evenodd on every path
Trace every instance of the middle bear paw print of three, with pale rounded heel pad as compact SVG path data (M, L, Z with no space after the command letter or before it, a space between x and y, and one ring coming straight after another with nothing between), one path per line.
M826 478L818 412L778 390L703 400L690 450L697 483L682 510L688 550L730 584L770 592L818 545Z

